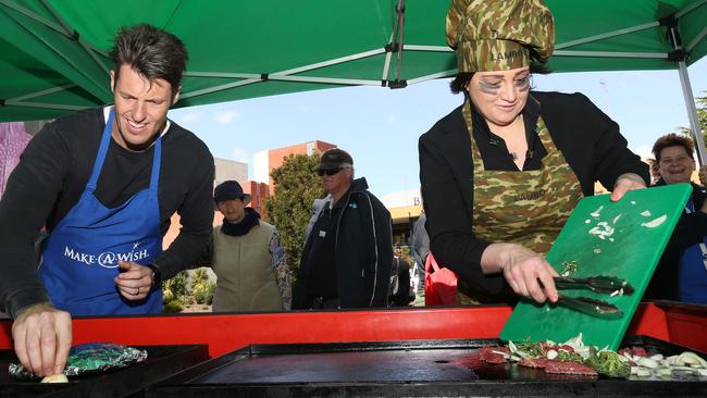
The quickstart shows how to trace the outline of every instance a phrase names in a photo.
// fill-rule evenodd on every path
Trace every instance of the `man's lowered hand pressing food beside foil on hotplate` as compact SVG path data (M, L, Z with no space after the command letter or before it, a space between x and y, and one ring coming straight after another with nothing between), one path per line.
M64 371L72 341L71 314L41 302L20 311L12 324L15 353L37 376Z

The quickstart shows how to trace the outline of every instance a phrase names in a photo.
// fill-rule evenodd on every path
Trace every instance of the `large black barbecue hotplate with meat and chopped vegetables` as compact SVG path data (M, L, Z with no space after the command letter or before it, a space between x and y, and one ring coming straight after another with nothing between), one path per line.
M152 385L150 397L188 396L707 396L707 378L615 380L486 364L474 353L497 339L253 345ZM650 355L686 349L633 336Z

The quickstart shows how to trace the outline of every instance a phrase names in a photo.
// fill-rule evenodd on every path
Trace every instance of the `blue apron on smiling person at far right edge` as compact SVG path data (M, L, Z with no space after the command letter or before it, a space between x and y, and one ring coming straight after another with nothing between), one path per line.
M695 211L692 199L685 212ZM680 301L707 303L707 236L682 254L680 261Z

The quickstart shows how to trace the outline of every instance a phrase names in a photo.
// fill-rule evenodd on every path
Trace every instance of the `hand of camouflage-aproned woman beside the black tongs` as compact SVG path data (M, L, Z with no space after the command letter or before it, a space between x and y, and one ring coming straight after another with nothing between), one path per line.
M481 258L484 272L503 272L513 291L537 302L557 301L557 272L545 258L521 245L493 244Z

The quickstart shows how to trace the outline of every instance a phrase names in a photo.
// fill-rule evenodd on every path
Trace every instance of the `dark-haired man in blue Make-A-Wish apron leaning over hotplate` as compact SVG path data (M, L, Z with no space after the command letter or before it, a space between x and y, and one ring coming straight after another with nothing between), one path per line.
M161 279L194 262L212 228L213 158L166 119L184 45L137 25L121 29L110 55L114 105L47 125L0 202L0 303L20 361L38 376L63 370L71 315L160 312ZM162 252L174 212L183 226Z

